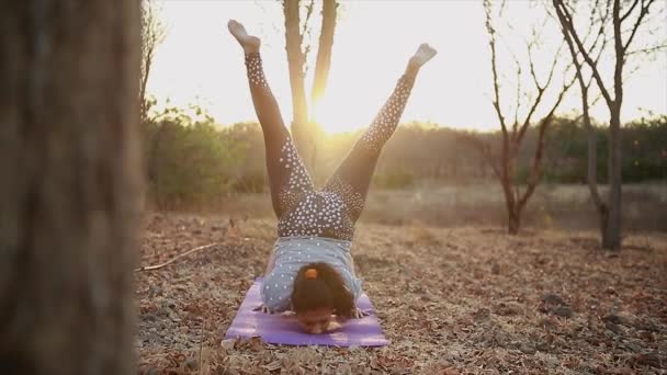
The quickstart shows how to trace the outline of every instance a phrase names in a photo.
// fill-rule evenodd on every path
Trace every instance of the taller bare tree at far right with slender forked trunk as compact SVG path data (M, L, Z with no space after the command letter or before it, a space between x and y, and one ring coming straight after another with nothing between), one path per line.
M621 178L621 109L623 104L623 68L628 57L636 50L630 46L637 35L638 29L647 22L647 15L655 0L632 0L621 3L620 0L597 0L592 4L589 15L588 34L596 33L592 43L583 33L577 31L574 16L576 8L574 2L552 0L561 30L570 52L576 77L581 90L583 120L588 129L588 188L600 216L600 231L602 247L609 250L621 249L621 219L622 219L622 178ZM624 7L625 5L625 7ZM638 7L637 7L638 5ZM611 13L611 16L610 16ZM625 24L630 23L630 27ZM606 52L606 43L598 48L597 41L607 39L607 31L611 27L613 42L613 92L610 82L604 82L600 68L600 56ZM657 46L660 48L664 46ZM596 50L598 50L596 53ZM652 52L655 48L643 48L642 52ZM597 57L595 55L598 55ZM589 114L589 89L591 81L586 82L584 67L590 70L591 81L595 81L609 109L609 196L607 202L600 196L597 189L596 173L596 136L591 126Z

